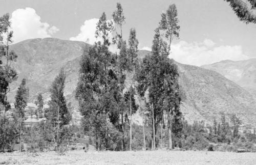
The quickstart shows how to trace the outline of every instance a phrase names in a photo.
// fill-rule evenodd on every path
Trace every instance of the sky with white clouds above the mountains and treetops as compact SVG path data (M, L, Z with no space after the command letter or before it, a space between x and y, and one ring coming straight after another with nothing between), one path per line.
M256 58L256 24L245 24L223 0L0 0L0 16L10 13L14 42L53 37L93 44L102 12L108 19L120 2L126 17L124 39L135 28L139 49L150 50L154 30L170 4L176 4L180 38L170 58L190 65Z

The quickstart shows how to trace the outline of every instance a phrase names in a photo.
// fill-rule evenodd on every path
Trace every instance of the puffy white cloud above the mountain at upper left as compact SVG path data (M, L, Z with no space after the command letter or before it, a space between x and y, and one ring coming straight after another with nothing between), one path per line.
M40 16L33 8L17 9L12 12L12 30L14 42L31 38L51 37L59 29L47 22L41 22Z

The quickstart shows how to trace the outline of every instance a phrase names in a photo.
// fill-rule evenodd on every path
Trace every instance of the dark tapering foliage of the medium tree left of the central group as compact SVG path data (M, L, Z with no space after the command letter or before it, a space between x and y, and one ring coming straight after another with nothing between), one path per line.
M67 139L70 136L66 129L71 121L71 114L64 97L65 80L66 74L62 68L52 83L50 88L51 100L48 102L49 108L45 110L46 132L48 135L52 134L46 139L56 143L56 151L60 151L59 149L63 145L67 145Z

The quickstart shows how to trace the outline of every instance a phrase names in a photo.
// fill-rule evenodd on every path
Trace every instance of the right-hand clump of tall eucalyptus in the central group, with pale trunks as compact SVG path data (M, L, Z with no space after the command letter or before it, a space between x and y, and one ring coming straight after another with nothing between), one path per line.
M167 114L169 149L173 147L172 132L181 131L180 90L178 69L173 60L168 59L174 38L179 37L176 6L170 5L161 15L159 27L155 30L151 56L146 56L137 72L137 90L141 96L148 93L152 116L152 149L156 148L157 125L164 123Z

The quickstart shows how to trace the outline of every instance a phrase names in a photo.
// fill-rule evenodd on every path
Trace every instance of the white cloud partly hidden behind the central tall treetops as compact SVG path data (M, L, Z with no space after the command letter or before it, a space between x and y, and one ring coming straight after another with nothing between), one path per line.
M103 41L101 38L95 37L95 31L96 31L96 24L99 21L98 18L92 18L89 20L84 21L83 25L80 27L80 33L76 37L71 37L70 40L72 41L83 41L88 44L94 44L98 41ZM111 21L111 20L108 20ZM113 38L113 34L109 34L109 39ZM116 45L110 46L110 51L117 52Z

